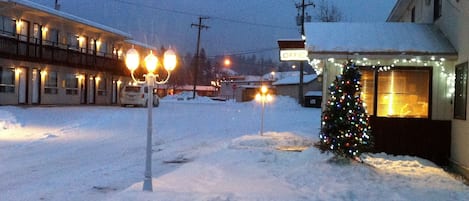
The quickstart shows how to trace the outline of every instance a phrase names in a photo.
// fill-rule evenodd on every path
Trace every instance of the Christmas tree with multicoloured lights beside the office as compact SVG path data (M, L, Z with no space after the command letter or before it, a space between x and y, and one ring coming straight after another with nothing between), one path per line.
M353 63L329 87L330 98L322 114L318 147L336 156L359 159L372 146L369 117L360 99L361 74Z

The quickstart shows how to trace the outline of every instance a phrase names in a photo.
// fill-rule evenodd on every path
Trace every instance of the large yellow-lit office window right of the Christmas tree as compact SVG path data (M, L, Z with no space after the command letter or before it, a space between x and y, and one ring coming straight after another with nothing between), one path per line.
M428 118L431 69L362 71L362 98L370 115Z

